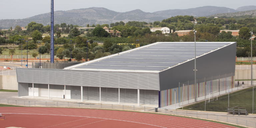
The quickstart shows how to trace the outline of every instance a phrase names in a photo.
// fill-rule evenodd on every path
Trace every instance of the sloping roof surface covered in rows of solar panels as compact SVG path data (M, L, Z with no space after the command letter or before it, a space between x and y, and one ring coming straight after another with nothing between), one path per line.
M230 43L196 43L196 56ZM76 69L161 71L195 57L195 44L163 42L77 67Z

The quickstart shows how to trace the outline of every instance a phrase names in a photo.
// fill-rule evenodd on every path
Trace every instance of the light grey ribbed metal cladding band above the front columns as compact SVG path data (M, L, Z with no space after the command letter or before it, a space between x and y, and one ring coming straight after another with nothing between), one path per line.
M159 90L159 75L17 68L22 83Z

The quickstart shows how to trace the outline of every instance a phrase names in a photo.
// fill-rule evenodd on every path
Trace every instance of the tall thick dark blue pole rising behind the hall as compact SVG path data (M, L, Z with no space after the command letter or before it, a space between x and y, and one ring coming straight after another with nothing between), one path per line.
M51 63L54 63L54 6L53 2L51 1Z

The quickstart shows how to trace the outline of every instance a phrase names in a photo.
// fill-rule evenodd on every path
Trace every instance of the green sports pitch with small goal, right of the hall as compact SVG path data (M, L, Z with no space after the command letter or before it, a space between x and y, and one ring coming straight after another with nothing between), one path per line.
M227 107L229 106L229 107L243 107L243 108L246 108L248 113L252 113L252 111L254 111L255 113L256 103L255 102L253 103L254 104L254 110L253 110L252 99L253 99L253 87L250 87L250 88L229 93L229 97L228 97L228 94L226 94L223 96L219 96L218 100L216 100L216 97L214 101L208 102L208 100L206 100L206 111L227 112ZM255 99L256 99L256 88L254 88L254 101ZM229 105L228 105L228 101L229 101ZM205 101L183 107L183 109L204 111Z

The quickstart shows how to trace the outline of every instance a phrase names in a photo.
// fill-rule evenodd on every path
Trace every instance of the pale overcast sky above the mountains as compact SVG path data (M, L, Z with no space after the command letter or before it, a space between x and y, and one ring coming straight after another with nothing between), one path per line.
M0 0L0 19L24 19L50 12L51 0ZM202 6L218 6L237 9L241 6L256 5L252 0L54 0L54 11L104 7L116 12L140 9L155 12L169 9L188 9Z

